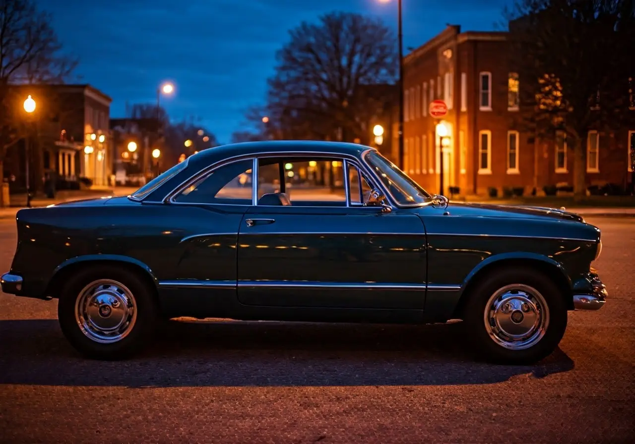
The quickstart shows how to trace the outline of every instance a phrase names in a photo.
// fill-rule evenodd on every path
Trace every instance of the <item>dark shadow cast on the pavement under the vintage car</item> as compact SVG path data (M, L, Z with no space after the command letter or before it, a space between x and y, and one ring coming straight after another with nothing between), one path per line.
M536 365L480 362L460 323L166 323L130 360L79 356L57 320L0 321L0 384L51 386L431 386L494 384L573 369L557 349Z

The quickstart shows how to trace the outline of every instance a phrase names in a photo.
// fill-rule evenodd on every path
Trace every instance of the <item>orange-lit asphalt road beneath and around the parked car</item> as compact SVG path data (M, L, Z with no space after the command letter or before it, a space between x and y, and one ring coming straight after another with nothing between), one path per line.
M94 362L62 337L57 302L3 294L0 442L635 442L635 219L590 221L610 301L571 313L531 367L474 362L460 324L220 321ZM2 271L15 242L0 220Z

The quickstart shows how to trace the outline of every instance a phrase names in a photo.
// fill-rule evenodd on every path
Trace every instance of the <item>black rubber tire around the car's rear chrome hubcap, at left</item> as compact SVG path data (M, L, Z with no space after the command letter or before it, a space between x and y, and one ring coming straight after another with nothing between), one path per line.
M122 319L124 317L130 319L129 322L123 322L121 324L124 326L121 330L126 333L125 335L121 335L123 336L121 339L117 340L107 336L104 336L107 339L93 339L94 336L91 336L93 335L92 333L84 333L84 331L93 332L93 329L86 327L86 325L90 325L90 323L83 322L82 325L84 325L84 327L80 327L80 321L76 318L76 304L78 306L84 306L82 301L85 299L81 297L84 293L84 289L91 283L97 281L106 282L106 280L114 282L115 284L112 286L102 285L100 289L105 289L104 291L112 289L111 294L114 294L114 289L116 288L118 288L119 291L124 289L130 292L133 300L133 303L129 304L129 306L134 306L134 310L126 310L126 314L122 315ZM93 292L93 294L97 293ZM127 292L121 294L128 295ZM104 297L108 297L108 294L105 295ZM90 299L90 297L87 297L87 299ZM123 305L119 303L118 299L114 298L114 300L114 304L109 305L115 307L114 309L104 308L104 313L112 314L113 320L116 319L114 315L123 313L122 311L116 311L119 310L119 307L123 307ZM130 298L126 300L130 300ZM113 298L111 297L109 301L113 301ZM90 305L90 307L90 310L93 310L91 311L93 318L97 318L98 322L104 322L98 318L98 316L102 317L102 314L104 314L102 313L102 309L97 309L97 305L95 304ZM97 312L95 312L95 310L97 310ZM79 273L76 273L62 288L57 308L60 327L62 327L62 332L70 344L82 355L98 360L125 359L138 353L154 337L154 330L159 318L158 311L154 289L134 271L115 264L88 266L79 271ZM86 316L81 317L81 319L86 320L90 318L87 313L87 311L84 311ZM97 313L98 316L95 315L95 313ZM136 313L136 316L133 317L130 313ZM130 325L130 328L126 329L125 325ZM95 331L99 333L99 330ZM110 342L104 343L104 341Z

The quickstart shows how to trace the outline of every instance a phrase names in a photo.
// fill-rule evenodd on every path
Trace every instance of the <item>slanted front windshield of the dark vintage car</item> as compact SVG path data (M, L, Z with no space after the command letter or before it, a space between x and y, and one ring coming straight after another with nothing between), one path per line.
M366 153L364 158L377 173L384 186L398 205L413 206L432 199L417 182L406 176L395 164L377 151Z

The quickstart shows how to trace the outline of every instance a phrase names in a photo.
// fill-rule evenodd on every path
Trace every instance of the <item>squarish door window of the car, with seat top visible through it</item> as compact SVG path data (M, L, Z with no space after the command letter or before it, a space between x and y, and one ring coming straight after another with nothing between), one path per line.
M344 162L324 157L262 158L258 202L272 193L285 193L291 206L346 206ZM263 201L273 202L269 197Z

